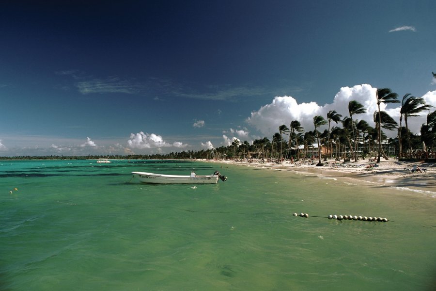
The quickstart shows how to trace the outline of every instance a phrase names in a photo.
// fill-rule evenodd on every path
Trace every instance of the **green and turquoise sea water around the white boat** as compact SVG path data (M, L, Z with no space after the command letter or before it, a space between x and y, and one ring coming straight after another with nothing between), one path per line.
M228 180L150 185L130 175L191 170ZM0 222L2 291L436 286L432 187L207 162L0 161Z

